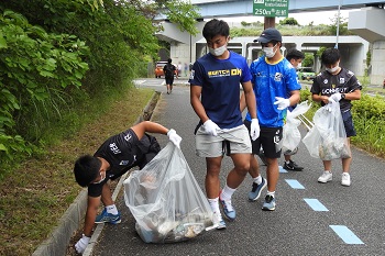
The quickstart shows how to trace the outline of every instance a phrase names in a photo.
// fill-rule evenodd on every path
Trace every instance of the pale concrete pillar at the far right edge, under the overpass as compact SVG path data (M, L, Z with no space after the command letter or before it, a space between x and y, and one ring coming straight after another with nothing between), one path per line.
M385 41L375 41L372 51L372 85L383 85L385 78Z

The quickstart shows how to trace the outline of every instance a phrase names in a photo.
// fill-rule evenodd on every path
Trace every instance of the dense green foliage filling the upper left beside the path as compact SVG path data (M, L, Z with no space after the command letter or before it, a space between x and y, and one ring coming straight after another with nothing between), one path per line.
M196 9L180 0L2 1L0 165L31 154L64 119L68 136L77 110L145 76L160 48L158 10L197 33Z

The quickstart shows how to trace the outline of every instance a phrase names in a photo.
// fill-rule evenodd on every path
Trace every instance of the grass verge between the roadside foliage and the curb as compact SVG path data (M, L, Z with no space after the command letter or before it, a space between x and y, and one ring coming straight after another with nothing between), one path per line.
M75 200L80 188L73 164L92 154L109 136L130 127L153 94L131 88L96 120L45 154L22 163L0 181L0 255L31 255Z

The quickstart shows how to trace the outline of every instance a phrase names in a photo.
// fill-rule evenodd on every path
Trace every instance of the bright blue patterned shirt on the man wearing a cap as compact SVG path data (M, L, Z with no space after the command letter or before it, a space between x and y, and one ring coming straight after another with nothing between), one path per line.
M274 104L275 97L287 99L290 91L300 90L296 69L286 58L282 58L275 64L268 64L265 56L262 56L251 64L250 71L260 126L284 126L286 110L277 109L278 105ZM249 112L245 119L251 121Z

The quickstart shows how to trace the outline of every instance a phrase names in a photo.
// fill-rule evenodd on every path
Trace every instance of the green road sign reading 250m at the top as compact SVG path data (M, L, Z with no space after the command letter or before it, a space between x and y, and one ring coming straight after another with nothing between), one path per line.
M257 16L287 16L289 0L253 0L253 13Z

